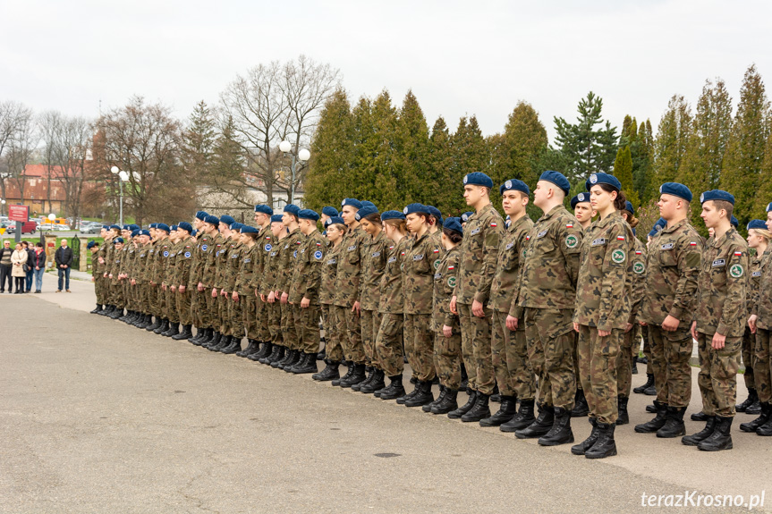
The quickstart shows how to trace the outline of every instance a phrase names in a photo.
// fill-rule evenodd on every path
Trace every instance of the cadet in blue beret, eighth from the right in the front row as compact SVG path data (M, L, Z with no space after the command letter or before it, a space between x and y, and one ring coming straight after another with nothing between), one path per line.
M365 349L365 363L369 375L364 382L352 385L353 391L367 394L386 387L384 370L378 362L376 339L380 328L380 282L386 268L386 250L389 240L383 232L380 213L371 206L362 206L354 217L361 223L368 236L362 244L362 271L360 279L360 309L362 345Z

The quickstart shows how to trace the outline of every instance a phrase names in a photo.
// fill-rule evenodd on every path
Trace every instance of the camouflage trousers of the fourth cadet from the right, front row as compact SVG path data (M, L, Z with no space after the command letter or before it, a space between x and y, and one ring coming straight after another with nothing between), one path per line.
M496 384L493 373L493 359L490 354L490 318L491 309L485 308L485 317L471 314L471 305L456 304L459 323L461 324L462 354L469 383L474 391L490 395ZM464 342L466 334L466 342ZM471 361L467 360L471 349ZM474 370L472 372L471 370ZM472 382L472 375L474 381Z

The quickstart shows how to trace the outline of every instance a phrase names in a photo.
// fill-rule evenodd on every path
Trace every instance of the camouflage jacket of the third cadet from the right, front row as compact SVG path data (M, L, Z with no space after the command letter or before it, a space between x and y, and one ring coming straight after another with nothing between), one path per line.
M517 297L520 283L520 267L522 265L522 250L525 238L533 227L533 222L527 215L511 223L504 232L498 244L496 257L496 274L490 286L488 308L509 313L513 298ZM522 316L518 316L522 317Z

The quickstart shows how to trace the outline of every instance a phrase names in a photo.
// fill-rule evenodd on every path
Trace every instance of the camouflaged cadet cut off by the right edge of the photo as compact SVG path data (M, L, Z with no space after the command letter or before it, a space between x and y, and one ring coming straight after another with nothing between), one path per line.
M760 227L759 227L760 228ZM772 230L772 203L767 206L767 230ZM761 415L742 423L742 432L772 435L772 366L769 362L769 333L772 332L772 245L761 256L758 298L753 302L748 325L756 333L753 349L753 379L759 393ZM746 411L747 412L747 411Z

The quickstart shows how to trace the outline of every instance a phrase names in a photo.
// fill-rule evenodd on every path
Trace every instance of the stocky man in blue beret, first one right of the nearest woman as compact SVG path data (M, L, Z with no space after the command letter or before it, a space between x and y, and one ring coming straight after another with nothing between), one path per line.
M649 273L639 310L641 325L649 329L657 416L635 426L635 432L657 437L685 434L683 413L691 400L690 324L700 274L702 238L688 221L691 190L677 182L659 187L659 215L666 226L649 244Z

